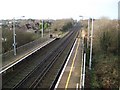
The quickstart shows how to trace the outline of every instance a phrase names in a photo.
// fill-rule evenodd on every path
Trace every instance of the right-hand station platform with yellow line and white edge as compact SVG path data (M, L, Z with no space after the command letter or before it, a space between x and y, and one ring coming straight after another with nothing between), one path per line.
M82 69L81 39L76 38L73 48L68 56L65 66L55 85L55 89L75 89L80 88Z

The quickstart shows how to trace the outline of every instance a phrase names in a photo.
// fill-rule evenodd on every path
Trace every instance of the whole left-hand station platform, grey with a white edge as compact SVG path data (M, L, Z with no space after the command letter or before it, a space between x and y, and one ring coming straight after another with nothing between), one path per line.
M20 61L24 60L26 57L35 53L40 48L42 48L42 47L46 46L47 44L49 44L50 42L54 41L55 39L56 38L45 38L45 39L41 40L41 42L39 42L39 41L37 41L37 43L33 42L33 44L29 45L30 47L27 48L28 50L24 50L24 51L20 50L21 53L18 52L16 56L13 56L13 52L12 52L12 55L11 55L11 53L9 55L6 55L5 59L4 59L4 57L2 57L2 63L1 63L2 66L0 67L0 74L5 72L9 68L13 67Z

